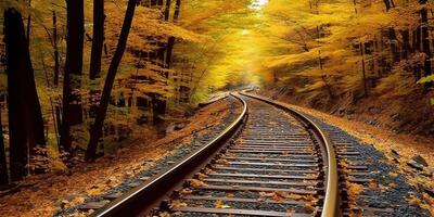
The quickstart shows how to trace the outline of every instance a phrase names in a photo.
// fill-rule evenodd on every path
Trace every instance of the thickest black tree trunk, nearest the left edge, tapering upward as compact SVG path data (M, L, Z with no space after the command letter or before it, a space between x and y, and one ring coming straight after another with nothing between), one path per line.
M28 174L29 153L46 143L23 17L14 9L4 11L4 42L9 93L11 180Z

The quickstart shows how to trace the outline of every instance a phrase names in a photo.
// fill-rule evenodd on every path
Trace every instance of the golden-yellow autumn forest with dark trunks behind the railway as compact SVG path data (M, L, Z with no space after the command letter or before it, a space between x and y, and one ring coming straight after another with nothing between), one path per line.
M245 87L433 138L427 0L2 0L0 10L1 189L164 138L201 102Z

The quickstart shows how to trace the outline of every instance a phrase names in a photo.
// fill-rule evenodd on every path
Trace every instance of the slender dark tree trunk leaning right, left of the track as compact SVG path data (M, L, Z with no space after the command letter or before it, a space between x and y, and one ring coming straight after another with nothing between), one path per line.
M112 93L116 72L127 46L129 30L131 28L132 18L135 16L136 4L137 0L128 0L128 7L127 11L125 12L124 24L120 30L117 48L113 55L112 62L110 63L107 76L104 82L104 89L101 95L100 106L98 107L97 117L91 128L89 145L86 150L86 161L93 161L95 158L98 141L100 140L102 135L102 127L104 125L105 115L107 113L110 95Z

